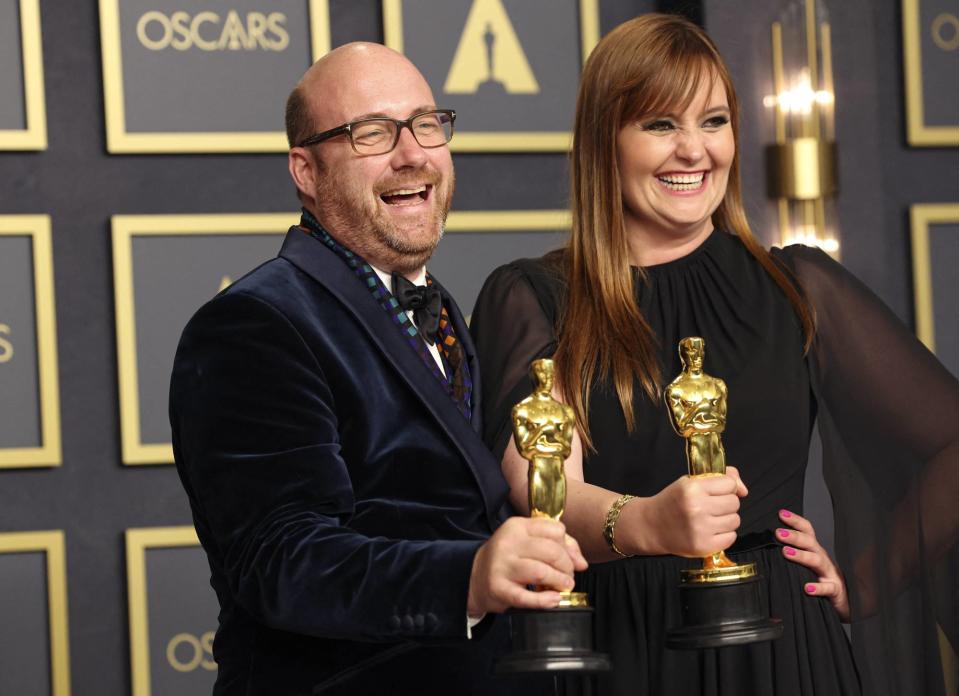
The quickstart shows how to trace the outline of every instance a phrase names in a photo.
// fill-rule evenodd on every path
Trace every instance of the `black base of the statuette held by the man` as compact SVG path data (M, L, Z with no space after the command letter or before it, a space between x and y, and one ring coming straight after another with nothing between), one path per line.
M609 656L593 652L593 609L512 609L513 651L500 657L497 675L521 672L608 672Z

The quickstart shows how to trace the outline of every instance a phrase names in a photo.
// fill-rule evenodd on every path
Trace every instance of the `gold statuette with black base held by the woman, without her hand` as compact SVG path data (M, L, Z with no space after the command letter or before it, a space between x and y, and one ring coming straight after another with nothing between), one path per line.
M729 392L726 383L703 371L706 341L698 336L679 342L682 372L663 392L669 422L686 442L690 476L726 473L726 429ZM680 571L683 625L666 634L677 649L741 645L782 636L782 621L765 608L765 582L755 563L738 565L723 551L706 556L702 568Z

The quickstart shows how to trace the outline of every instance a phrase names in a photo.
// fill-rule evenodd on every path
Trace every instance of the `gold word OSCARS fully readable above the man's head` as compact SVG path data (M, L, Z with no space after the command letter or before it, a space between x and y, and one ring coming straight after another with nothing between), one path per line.
M284 51L290 45L286 24L282 12L247 12L244 17L236 10L226 15L150 10L137 20L136 33L151 51Z

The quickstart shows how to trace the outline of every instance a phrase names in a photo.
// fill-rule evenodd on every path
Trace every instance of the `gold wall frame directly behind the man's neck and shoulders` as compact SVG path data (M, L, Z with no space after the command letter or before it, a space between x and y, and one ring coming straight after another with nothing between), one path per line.
M195 215L114 215L113 291L117 330L121 458L126 465L173 463L170 443L144 443L140 437L136 314L133 296L133 237L209 234L285 234L299 213L212 213ZM567 230L566 210L454 211L445 230L457 232L551 232ZM228 231L224 231L228 230Z

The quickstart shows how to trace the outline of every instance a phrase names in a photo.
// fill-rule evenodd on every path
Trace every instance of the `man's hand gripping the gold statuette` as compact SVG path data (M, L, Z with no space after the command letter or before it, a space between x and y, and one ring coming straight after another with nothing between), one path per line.
M511 517L473 558L467 613L477 617L510 607L555 607L559 591L573 588L573 571L585 569L579 544L562 523ZM527 585L549 589L532 591Z

